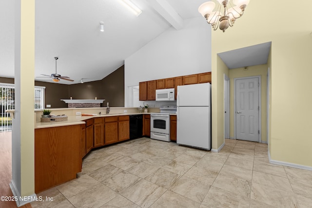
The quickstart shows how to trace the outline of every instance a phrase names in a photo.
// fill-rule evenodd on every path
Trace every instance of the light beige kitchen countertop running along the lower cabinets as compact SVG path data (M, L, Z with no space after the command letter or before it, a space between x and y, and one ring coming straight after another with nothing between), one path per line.
M111 113L111 114L102 114L102 115L93 115L93 116L72 115L72 116L68 116L68 120L67 121L36 122L35 123L35 129L85 124L84 120L87 120L87 119L90 119L90 118L107 117L107 116L119 116L119 115L136 115L136 114L151 114L151 113ZM170 113L170 115L176 115L176 113Z

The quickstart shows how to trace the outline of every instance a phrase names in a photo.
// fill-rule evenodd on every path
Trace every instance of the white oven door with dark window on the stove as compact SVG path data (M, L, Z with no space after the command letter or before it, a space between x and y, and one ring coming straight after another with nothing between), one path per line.
M169 114L151 114L151 132L169 134Z

